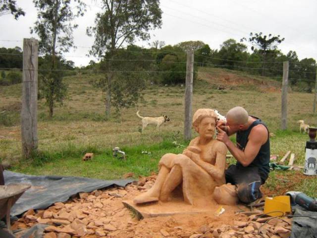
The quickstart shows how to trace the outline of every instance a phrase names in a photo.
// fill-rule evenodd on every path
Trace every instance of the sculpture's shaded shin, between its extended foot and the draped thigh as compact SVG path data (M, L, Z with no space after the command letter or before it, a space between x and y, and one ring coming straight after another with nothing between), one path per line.
M182 180L182 168L179 165L173 166L160 190L159 200L167 201L170 193L182 182Z

